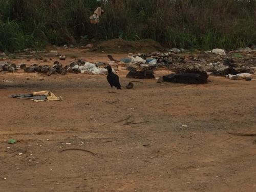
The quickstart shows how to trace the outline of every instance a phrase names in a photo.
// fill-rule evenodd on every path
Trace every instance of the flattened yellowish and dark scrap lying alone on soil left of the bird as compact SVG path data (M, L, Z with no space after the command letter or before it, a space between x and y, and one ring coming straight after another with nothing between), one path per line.
M62 100L61 97L57 97L52 92L49 92L49 91L39 91L39 92L33 92L31 94L9 95L9 97L18 98L18 99L30 99L35 102Z

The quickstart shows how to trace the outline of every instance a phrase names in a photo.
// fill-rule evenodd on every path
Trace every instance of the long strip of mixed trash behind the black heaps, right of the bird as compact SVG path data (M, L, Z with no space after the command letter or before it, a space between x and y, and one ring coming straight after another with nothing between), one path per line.
M176 72L186 66L194 68L203 68L208 75L225 76L228 74L237 75L240 73L253 74L256 69L256 50L244 48L237 51L226 52L223 49L214 49L212 51L199 52L196 54L182 54L185 50L173 48L166 53L153 52L150 54L129 54L120 60L111 59L119 62L127 70L137 74L136 71L145 70L163 70L168 69ZM243 53L243 54L242 54ZM248 54L249 53L249 54ZM110 57L109 57L110 58ZM199 69L201 70L201 69Z

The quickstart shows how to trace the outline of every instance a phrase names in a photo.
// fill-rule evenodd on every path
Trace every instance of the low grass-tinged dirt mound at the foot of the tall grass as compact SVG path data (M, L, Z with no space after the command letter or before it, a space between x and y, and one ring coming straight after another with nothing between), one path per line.
M133 53L133 52L154 52L163 50L162 46L152 40L143 39L138 41L129 41L123 39L112 39L99 42L91 51L106 53Z

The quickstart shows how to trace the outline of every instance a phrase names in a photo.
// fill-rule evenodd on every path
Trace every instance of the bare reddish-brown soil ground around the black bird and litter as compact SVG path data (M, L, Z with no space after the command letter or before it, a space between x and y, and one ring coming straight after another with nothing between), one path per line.
M65 62L108 60L58 52ZM153 79L126 90L126 74L118 71L123 89L115 90L104 75L0 73L0 191L256 191L256 137L227 133L256 133L256 81ZM42 90L63 101L8 97ZM95 156L60 152L68 148Z

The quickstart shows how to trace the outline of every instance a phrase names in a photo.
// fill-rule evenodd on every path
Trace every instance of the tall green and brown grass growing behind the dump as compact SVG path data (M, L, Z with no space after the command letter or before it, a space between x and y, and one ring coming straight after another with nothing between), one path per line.
M91 25L98 6L105 12ZM256 1L247 0L0 0L0 50L119 37L237 49L256 44L255 10Z

